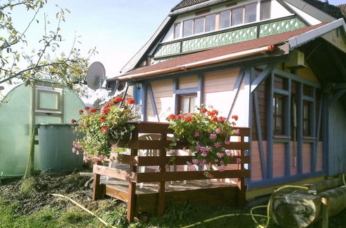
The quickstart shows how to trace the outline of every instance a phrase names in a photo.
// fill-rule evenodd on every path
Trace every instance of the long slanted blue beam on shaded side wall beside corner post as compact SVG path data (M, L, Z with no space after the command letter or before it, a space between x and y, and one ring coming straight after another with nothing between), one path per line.
M256 123L257 141L258 141L258 147L260 149L262 178L266 179L266 161L264 160L262 128L261 128L261 120L260 120L260 108L258 108L257 91L255 91L253 93L253 95L254 95L253 104L255 106L255 123Z

